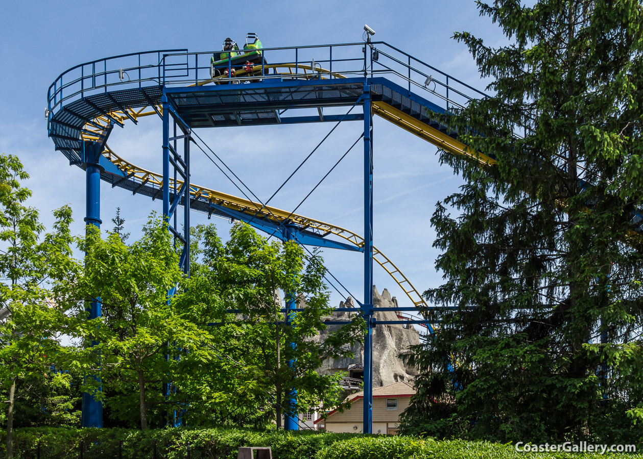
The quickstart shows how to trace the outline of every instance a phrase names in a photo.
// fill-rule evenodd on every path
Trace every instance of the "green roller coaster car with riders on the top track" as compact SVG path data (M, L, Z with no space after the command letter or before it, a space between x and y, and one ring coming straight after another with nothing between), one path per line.
M226 44L228 49L226 49ZM258 76L261 74L261 67L254 69L257 65L267 64L263 59L262 44L256 33L248 33L246 35L246 45L243 50L239 50L239 46L233 40L226 39L222 46L222 51L214 53L210 58L210 77L217 78L219 76L229 77L235 76L235 73L240 70L244 71L244 76ZM230 66L230 74L228 74L228 65ZM256 79L250 80L256 81ZM216 82L225 84L224 82Z

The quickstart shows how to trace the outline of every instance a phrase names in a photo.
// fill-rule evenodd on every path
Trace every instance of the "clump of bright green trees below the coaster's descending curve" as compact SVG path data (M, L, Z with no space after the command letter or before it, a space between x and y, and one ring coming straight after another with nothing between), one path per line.
M319 254L269 243L248 225L233 226L225 244L213 226L199 227L188 278L156 216L130 245L120 214L114 224L107 234L87 227L78 238L84 261L55 286L57 302L71 311L71 333L95 343L66 348L68 368L98 377L83 388L102 397L108 424L145 429L181 418L190 426L266 427L286 411L340 403L341 375L315 369L350 354L345 344L361 337L361 322L312 342L332 309ZM303 307L289 321L284 292ZM89 320L93 301L102 316ZM298 408L289 404L291 388Z

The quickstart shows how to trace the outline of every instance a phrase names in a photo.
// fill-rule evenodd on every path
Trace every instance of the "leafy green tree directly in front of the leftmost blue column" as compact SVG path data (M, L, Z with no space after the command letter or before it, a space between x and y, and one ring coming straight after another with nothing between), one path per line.
M114 223L120 227L123 221ZM86 258L77 263L77 277L60 285L60 301L78 305L77 334L98 345L77 349L77 361L100 376L105 393L111 394L105 403L115 417L147 429L152 413L161 424L166 411L181 409L176 397L167 398L161 390L172 381L179 355L208 359L210 352L201 345L208 333L190 311L177 309L186 303L172 296L180 295L184 275L167 225L151 216L143 236L131 245L125 245L120 230L101 238L90 228L80 248ZM102 317L87 320L84 305L98 297ZM98 381L87 378L86 385L96 390Z

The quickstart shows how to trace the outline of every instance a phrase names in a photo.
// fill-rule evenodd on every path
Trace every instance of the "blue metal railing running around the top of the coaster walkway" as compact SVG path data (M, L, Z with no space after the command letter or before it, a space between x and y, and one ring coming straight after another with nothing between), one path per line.
M212 51L190 53L187 49L165 49L112 56L76 65L51 83L47 94L48 121L64 103L97 92L107 92L109 87L129 89L143 87L144 83L169 86L208 82L211 78L212 55ZM422 97L446 106L447 110L450 107L465 107L474 98L486 97L484 92L386 42L264 48L260 56L260 74L230 78L230 82L256 81L258 78L311 78L311 67L314 65L314 74L318 78L386 76L409 93L417 91ZM235 59L229 57L224 67L230 74L231 67L243 67L244 62L243 55ZM281 73L276 71L275 66L282 67ZM290 73L284 74L283 67L291 67Z

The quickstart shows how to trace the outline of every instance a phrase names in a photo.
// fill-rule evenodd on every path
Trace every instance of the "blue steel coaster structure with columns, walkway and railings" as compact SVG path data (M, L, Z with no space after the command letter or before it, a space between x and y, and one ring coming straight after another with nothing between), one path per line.
M385 117L440 148L491 165L495 162L493 154L467 151L466 146L455 140L457 132L435 119L435 114L466 107L474 98L486 96L385 42L265 48L260 64L251 72L240 71L237 77L225 80L210 78L210 55L212 51L190 53L186 49L170 49L77 65L60 74L49 88L48 133L56 150L64 153L70 164L87 171L87 223L100 225L99 177L132 194L152 200L162 196L163 216L177 247L181 247L181 268L186 273L190 272L191 210L248 221L282 240L363 252L364 299L359 304L367 323L363 431L370 433L372 329L377 324L392 323L375 321L372 300L372 116ZM329 113L331 108L353 105L363 107L363 111L348 116L338 116L332 110ZM147 114L156 114L163 120L162 176L137 169L104 150L113 126L123 127L125 121L137 123L139 117ZM363 243L351 245L334 238L330 230L324 232L319 225L311 227L294 216L284 220L269 209L253 209L240 199L230 202L228 198L213 198L208 190L190 185L192 129L341 119L363 121ZM641 229L643 218L639 214L633 215L631 221L637 230ZM90 314L100 315L100 302L95 303ZM406 308L396 308L401 309ZM426 321L399 323L421 322ZM87 404L93 408L86 410L85 399L84 396L83 419L91 420L87 423L84 420L83 425L102 425L100 403L87 394Z

